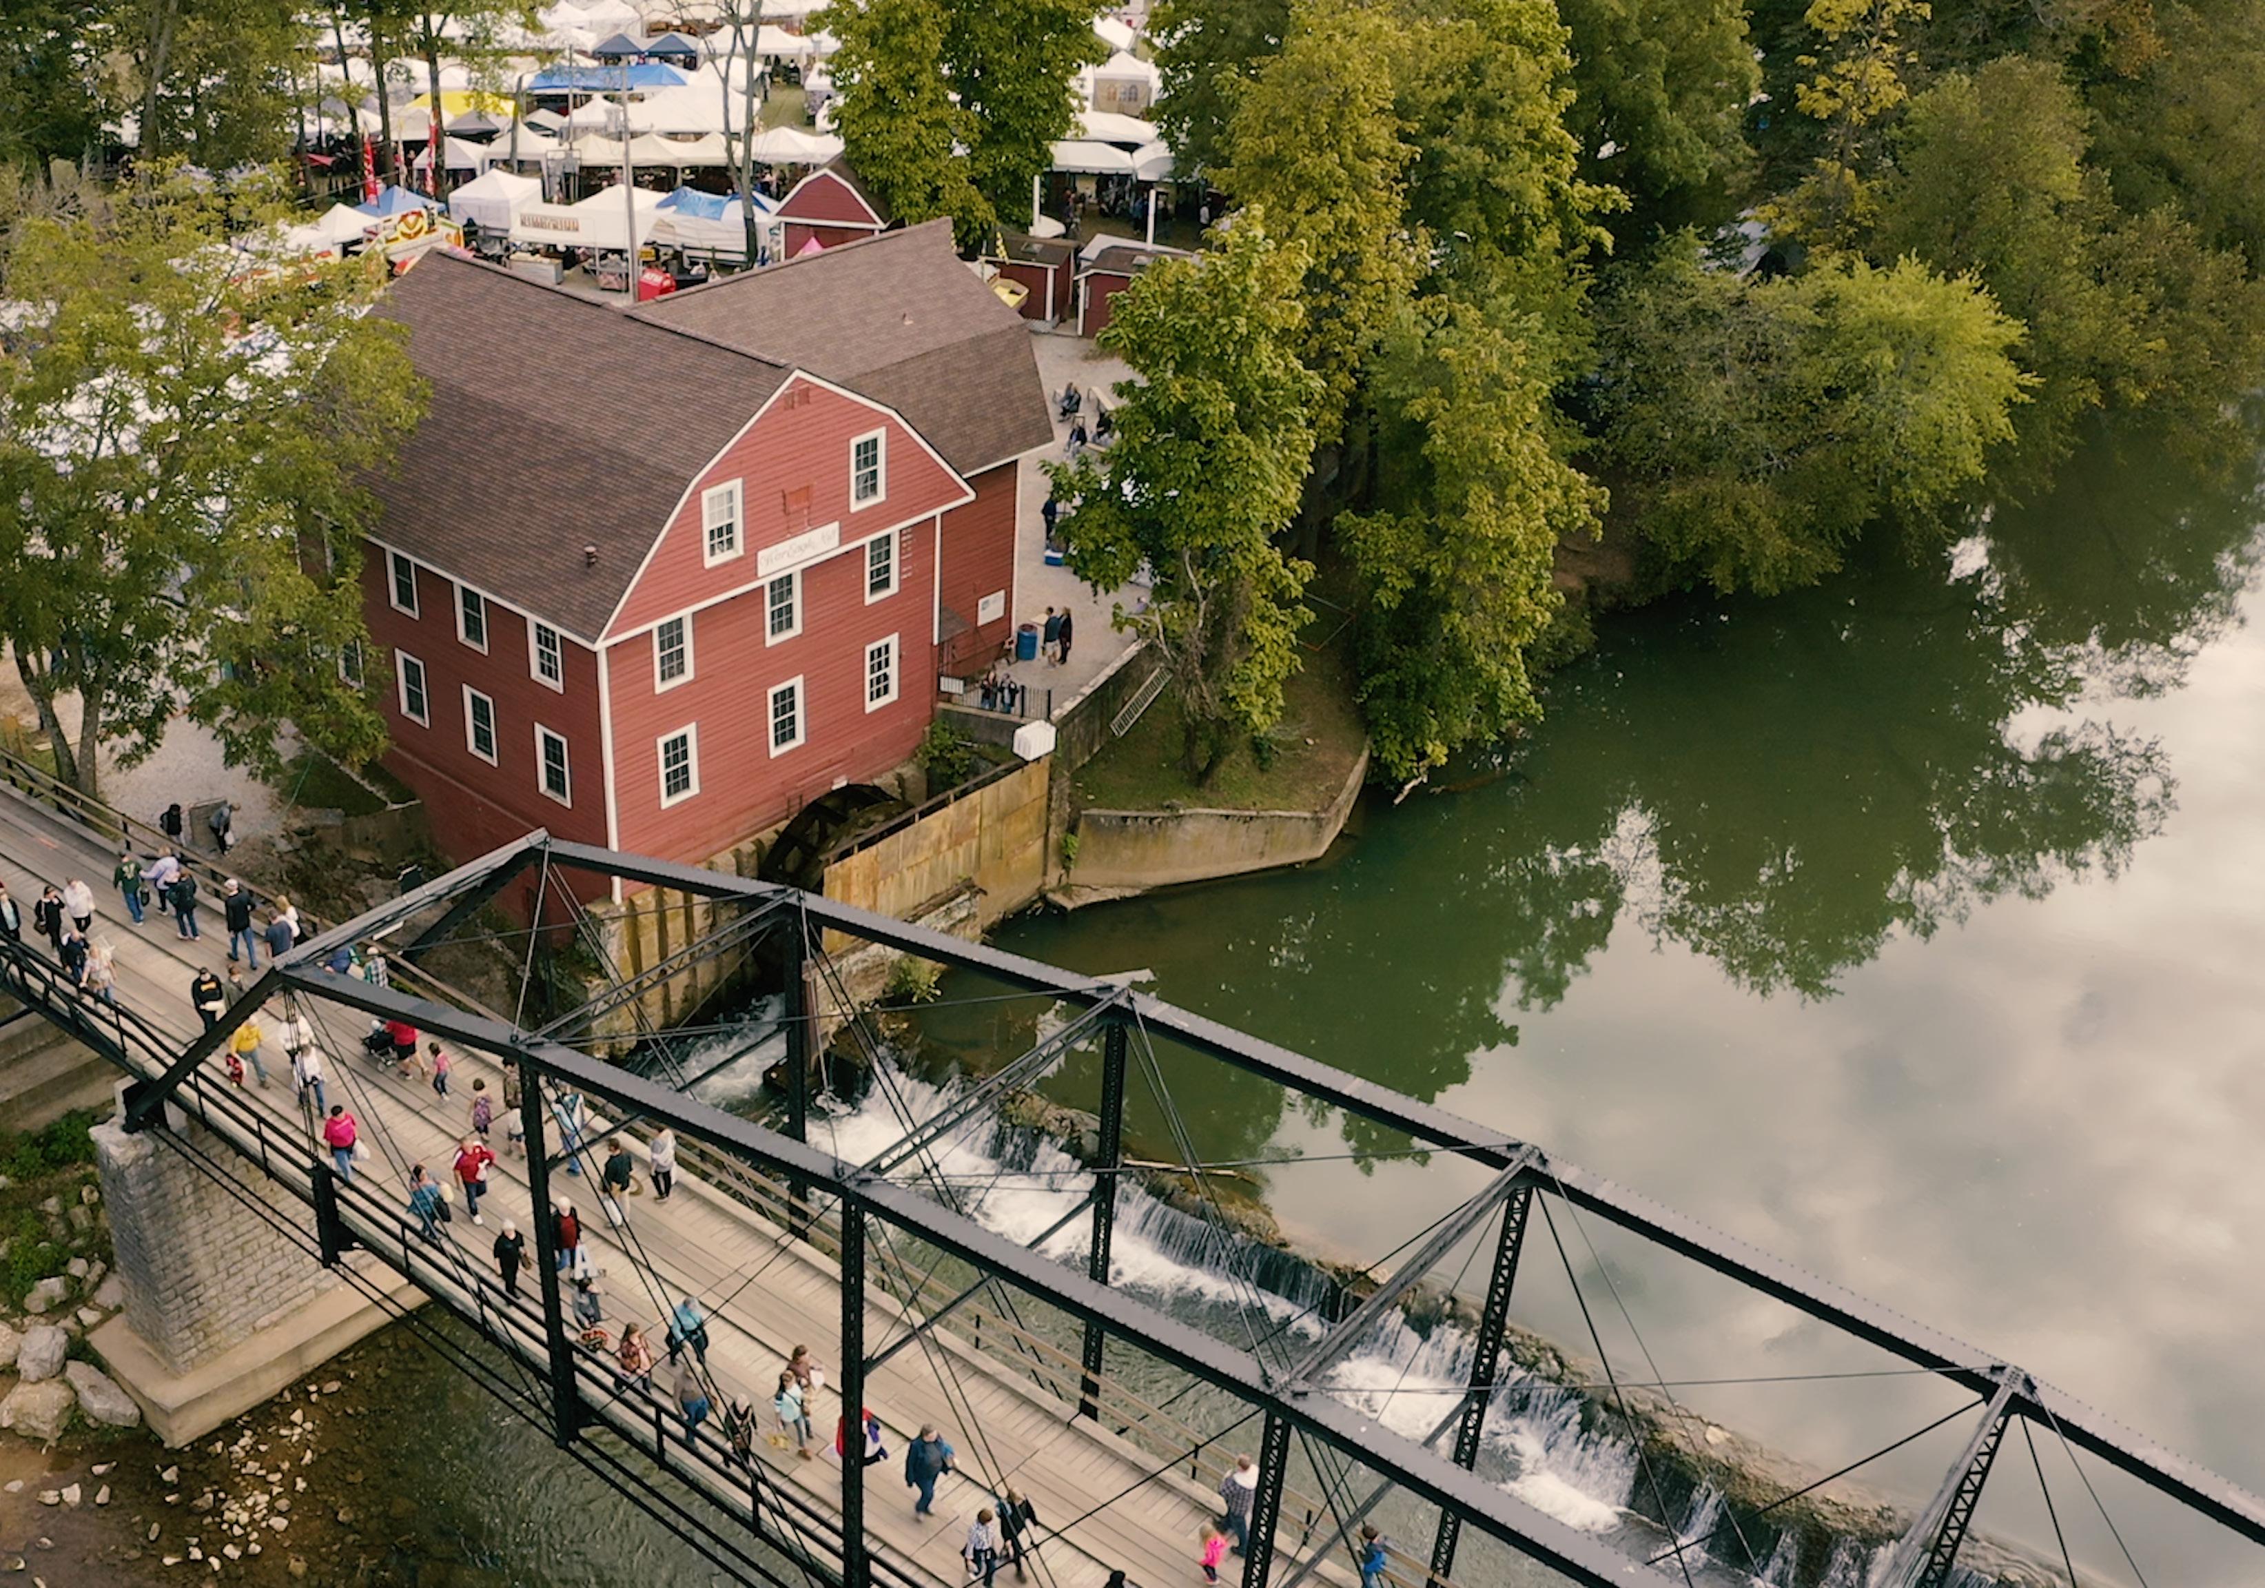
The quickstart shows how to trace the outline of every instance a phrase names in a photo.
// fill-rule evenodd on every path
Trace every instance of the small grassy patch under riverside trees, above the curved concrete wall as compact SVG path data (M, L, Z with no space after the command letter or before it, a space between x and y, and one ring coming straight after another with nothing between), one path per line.
M1078 770L1080 809L1099 811L1316 811L1345 786L1366 729L1352 700L1352 659L1343 643L1307 650L1289 680L1273 766L1259 768L1248 748L1225 759L1207 788L1180 770L1180 707L1164 691L1123 738Z

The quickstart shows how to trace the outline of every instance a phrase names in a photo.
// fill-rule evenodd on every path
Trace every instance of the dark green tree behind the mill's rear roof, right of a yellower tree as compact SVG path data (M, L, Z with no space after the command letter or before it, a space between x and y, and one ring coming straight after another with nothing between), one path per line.
M949 5L945 70L967 113L969 181L1001 222L1028 229L1031 179L1053 168L1053 143L1076 129L1069 79L1103 59L1089 0Z

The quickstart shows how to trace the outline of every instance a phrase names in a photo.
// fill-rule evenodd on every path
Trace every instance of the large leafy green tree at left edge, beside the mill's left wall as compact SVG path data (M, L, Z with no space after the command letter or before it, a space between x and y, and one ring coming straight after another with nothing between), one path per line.
M294 723L362 761L385 743L344 682L365 639L360 532L421 390L365 315L376 265L288 279L229 247L260 195L168 181L18 215L0 297L0 639L59 772L95 793L188 711L274 770ZM77 698L63 732L57 702Z

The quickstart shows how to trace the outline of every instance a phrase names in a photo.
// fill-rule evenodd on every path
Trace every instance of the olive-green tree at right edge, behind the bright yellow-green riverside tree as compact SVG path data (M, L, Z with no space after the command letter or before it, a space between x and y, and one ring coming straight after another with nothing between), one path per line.
M2122 213L2086 163L2093 116L2048 61L2009 57L1918 95L1878 183L1873 258L1973 272L2027 324L2038 376L2016 417L2034 485L2093 408L2152 408L2211 430L2265 367L2265 301L2170 206Z

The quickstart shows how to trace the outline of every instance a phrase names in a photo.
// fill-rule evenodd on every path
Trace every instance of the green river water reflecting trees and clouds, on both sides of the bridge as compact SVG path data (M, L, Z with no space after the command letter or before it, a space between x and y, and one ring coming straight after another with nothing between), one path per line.
M1531 736L1373 800L1314 868L997 940L1153 970L1166 999L1542 1142L2265 1488L2258 537L2254 473L2100 442L1955 550L1604 618ZM1028 1019L933 1024L1003 1044ZM1484 1178L1157 1058L1203 1158L1309 1160L1259 1185L1330 1253L1375 1260ZM1053 1083L1087 1105L1092 1087L1089 1058ZM1132 1126L1173 1153L1144 1085ZM1572 1269L1629 1377L1796 1380L1678 1391L1796 1457L1846 1463L1964 1400L1592 1219L1558 1235L1563 1262L1529 1244L1520 1323L1588 1346ZM476 1561L462 1581L702 1579L618 1506L591 1527L587 1479L448 1368L396 1389L428 1434L464 1429L399 1454L448 1475L424 1484L412 1554ZM1964 1432L1880 1486L1923 1495ZM2066 1457L2041 1454L2084 1581L2136 1581ZM2265 1577L2086 1472L2147 1581ZM1982 1527L2050 1547L2036 1493L2007 1445Z

